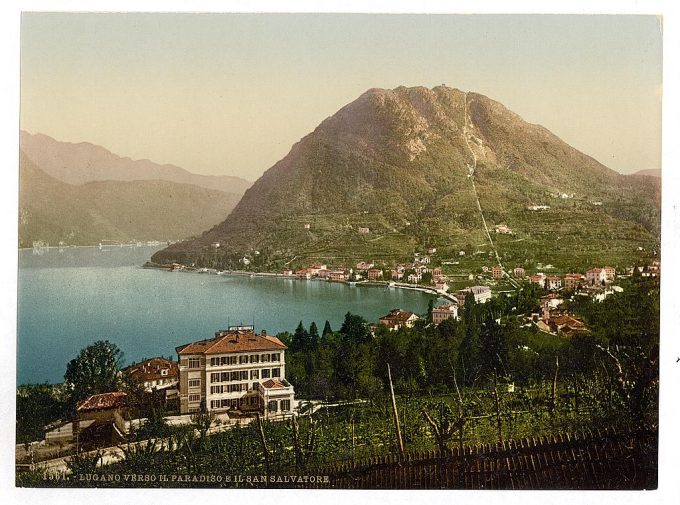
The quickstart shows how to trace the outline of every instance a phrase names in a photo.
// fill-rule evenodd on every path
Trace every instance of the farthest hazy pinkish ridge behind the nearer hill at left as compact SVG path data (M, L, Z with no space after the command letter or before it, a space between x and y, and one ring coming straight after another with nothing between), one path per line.
M158 179L234 194L243 194L251 184L240 177L198 175L174 165L122 158L101 146L60 142L41 133L21 131L19 143L26 156L42 170L69 184Z

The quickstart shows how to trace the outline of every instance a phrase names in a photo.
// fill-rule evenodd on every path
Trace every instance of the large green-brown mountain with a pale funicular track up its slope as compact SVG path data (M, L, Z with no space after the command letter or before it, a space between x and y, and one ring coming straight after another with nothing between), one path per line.
M504 260L627 262L656 246L659 198L658 181L620 175L483 95L371 89L295 144L222 223L153 261L390 265L426 246L489 252L479 201L492 232L514 232L494 237Z

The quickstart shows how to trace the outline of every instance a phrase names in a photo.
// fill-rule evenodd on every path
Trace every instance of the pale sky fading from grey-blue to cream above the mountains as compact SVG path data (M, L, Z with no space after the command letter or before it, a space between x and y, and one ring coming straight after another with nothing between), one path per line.
M661 166L653 16L27 13L21 127L257 179L372 87L498 100L622 173Z

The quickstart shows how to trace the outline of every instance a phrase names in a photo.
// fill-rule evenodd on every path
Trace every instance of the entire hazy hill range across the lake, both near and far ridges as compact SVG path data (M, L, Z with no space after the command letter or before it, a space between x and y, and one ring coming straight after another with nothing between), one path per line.
M19 246L186 239L224 219L248 184L21 132Z

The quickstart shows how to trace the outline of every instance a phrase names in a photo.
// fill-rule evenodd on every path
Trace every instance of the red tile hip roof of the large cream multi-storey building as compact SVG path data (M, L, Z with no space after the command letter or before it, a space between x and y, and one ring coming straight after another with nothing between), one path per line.
M247 351L281 351L286 345L272 335L257 335L251 330L218 332L218 336L176 348L177 354L228 354Z

